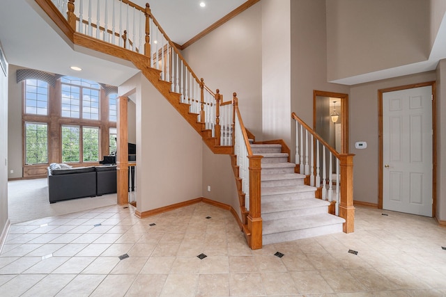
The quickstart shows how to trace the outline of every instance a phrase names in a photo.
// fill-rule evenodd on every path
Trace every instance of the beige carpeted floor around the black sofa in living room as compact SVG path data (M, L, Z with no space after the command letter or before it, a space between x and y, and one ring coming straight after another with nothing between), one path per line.
M8 216L11 224L114 204L116 193L49 204L46 178L8 182Z

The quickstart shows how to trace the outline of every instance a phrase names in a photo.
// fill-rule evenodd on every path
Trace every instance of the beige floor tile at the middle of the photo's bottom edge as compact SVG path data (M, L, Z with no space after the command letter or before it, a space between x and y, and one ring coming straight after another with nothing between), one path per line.
M229 274L199 275L197 297L229 296Z

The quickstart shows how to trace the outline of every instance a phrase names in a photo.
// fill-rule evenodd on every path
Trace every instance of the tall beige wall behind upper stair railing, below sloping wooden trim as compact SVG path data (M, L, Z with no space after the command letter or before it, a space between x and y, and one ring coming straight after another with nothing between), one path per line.
M237 93L243 122L258 140L262 137L261 2L183 51L195 74L214 92L220 89L224 101Z

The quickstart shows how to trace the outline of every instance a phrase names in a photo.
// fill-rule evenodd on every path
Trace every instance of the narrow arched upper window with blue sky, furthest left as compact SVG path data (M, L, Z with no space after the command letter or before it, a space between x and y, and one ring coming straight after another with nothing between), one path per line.
M38 79L26 79L24 106L27 114L47 115L48 83Z

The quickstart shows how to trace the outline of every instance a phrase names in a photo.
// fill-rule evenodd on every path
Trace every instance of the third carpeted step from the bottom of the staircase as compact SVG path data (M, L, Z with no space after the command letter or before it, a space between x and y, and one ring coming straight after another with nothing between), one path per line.
M261 188L262 201L289 201L314 198L314 186L273 186Z

